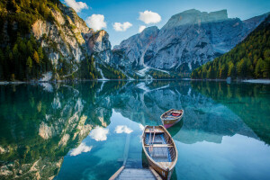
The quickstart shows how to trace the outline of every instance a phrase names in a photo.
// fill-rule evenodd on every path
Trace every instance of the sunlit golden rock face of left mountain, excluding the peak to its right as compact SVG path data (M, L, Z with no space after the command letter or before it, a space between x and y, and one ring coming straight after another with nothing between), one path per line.
M49 58L54 66L58 64L60 56L68 61L74 60L76 62L84 58L84 49L79 47L85 43L82 33L88 35L94 33L94 31L86 28L85 23L80 20L71 8L64 5L60 6L60 8L61 12L51 9L56 23L38 20L32 25L34 36L37 40L41 40L43 47L48 49ZM56 47L53 49L51 44L55 44Z

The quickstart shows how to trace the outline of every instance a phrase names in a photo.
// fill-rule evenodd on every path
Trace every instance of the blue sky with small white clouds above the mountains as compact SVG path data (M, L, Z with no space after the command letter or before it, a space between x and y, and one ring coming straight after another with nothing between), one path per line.
M169 18L189 9L213 12L227 9L229 18L248 18L270 12L270 0L60 0L73 7L94 30L109 33L112 47L145 27L159 29Z

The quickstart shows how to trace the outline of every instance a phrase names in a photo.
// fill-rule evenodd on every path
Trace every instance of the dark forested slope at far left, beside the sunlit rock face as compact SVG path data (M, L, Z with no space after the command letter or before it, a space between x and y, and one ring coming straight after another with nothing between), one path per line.
M0 1L0 79L26 80L51 69L40 42L31 35L37 19L53 22L49 5L58 1Z

